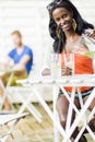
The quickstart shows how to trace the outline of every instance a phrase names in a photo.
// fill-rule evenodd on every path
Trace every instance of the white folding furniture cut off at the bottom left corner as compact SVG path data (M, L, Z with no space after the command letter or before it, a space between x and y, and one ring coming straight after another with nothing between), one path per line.
M11 125L11 128L9 129L9 131L2 135L0 135L0 142L5 142L8 140L8 138L12 134L15 126L17 125L17 122L22 119L25 118L28 114L0 114L0 126L3 127L5 125L8 125L9 122L13 123Z

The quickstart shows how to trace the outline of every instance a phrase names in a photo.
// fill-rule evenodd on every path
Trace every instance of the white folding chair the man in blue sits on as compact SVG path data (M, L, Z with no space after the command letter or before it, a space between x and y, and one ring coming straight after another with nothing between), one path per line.
M28 75L28 78L31 78L31 76ZM24 79L24 81L25 81L25 79ZM19 82L16 81L16 83L19 83ZM36 107L32 104L32 98L33 98L34 94L33 94L31 87L27 87L27 86L28 86L28 84L25 84L25 86L24 85L22 85L22 86L10 86L9 85L7 87L7 92L8 92L8 95L9 95L8 97L10 97L11 93L13 94L13 92L15 92L17 99L20 99L20 102L22 103L22 107L20 108L19 114L22 114L25 110L25 108L27 108L27 110L35 117L35 119L38 122L41 122L43 116L36 109ZM24 95L22 95L25 92L27 92L27 97L24 97Z

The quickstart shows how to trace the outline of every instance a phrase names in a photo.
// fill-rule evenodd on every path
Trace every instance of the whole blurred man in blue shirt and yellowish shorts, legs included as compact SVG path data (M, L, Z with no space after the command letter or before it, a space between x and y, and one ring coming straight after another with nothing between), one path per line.
M11 85L16 84L16 80L25 79L29 74L33 66L33 51L32 49L24 45L22 42L22 34L19 31L14 31L11 34L13 44L15 48L13 48L8 54L8 62L13 61L12 70L15 72L14 78L12 80ZM4 74L2 76L2 81L7 84L7 80L9 79L9 74ZM0 86L0 94L3 94L2 88ZM4 102L5 109L11 109L8 99Z

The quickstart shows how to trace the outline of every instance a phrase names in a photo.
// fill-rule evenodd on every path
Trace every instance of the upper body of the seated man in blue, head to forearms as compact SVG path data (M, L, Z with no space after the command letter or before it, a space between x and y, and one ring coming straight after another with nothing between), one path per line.
M33 66L33 51L31 47L23 44L22 34L19 31L12 32L11 36L15 47L8 56L13 60L15 70L28 74Z

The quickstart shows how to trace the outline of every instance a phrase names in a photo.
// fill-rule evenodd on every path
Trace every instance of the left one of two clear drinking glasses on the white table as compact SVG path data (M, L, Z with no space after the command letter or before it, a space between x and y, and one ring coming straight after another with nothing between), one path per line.
M61 78L61 55L51 54L51 76L54 79Z

